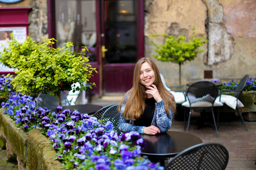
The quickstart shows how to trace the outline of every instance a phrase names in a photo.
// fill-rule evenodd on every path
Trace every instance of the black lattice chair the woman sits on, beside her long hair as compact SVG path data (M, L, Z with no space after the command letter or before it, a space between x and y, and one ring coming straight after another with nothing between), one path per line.
M118 104L114 104L106 109L106 111L102 114L101 120L112 122L113 130L117 131L117 133L121 135L122 132L118 129L120 113L117 110L117 106Z

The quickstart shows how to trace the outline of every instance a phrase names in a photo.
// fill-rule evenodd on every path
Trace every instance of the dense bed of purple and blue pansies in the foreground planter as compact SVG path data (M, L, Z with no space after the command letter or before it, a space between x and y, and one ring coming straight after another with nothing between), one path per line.
M50 113L47 108L36 108L31 96L21 94L11 94L1 105L16 126L26 133L29 131L28 137L30 130L42 129L57 151L56 160L66 169L163 169L158 163L141 157L144 142L138 133L120 137L112 130L111 122L98 121L96 117L68 109L61 111L61 107L56 113ZM28 142L28 148L30 143L33 142ZM36 148L30 151L33 150ZM30 160L30 154L27 155Z

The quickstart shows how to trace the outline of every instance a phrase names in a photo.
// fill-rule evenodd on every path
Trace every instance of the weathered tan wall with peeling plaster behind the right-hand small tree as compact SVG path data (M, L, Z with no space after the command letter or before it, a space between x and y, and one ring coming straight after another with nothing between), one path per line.
M206 35L208 44L191 62L181 66L183 84L204 79L211 70L213 79L223 82L240 80L245 74L256 77L256 3L244 0L146 0L145 56L152 58L150 40L163 43L163 38L148 37L152 33L171 35ZM156 59L154 59L156 61ZM168 86L179 84L179 65L156 61Z

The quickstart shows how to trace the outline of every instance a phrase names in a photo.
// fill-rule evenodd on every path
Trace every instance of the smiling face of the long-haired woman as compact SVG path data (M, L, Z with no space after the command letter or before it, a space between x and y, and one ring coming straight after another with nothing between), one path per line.
M139 82L141 82L144 86L151 86L151 84L155 82L155 72L148 62L144 62L141 65Z

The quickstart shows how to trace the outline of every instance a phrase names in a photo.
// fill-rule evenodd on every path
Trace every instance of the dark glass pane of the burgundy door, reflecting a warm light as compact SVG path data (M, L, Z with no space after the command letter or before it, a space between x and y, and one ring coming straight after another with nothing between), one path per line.
M105 1L106 63L137 60L136 1Z

